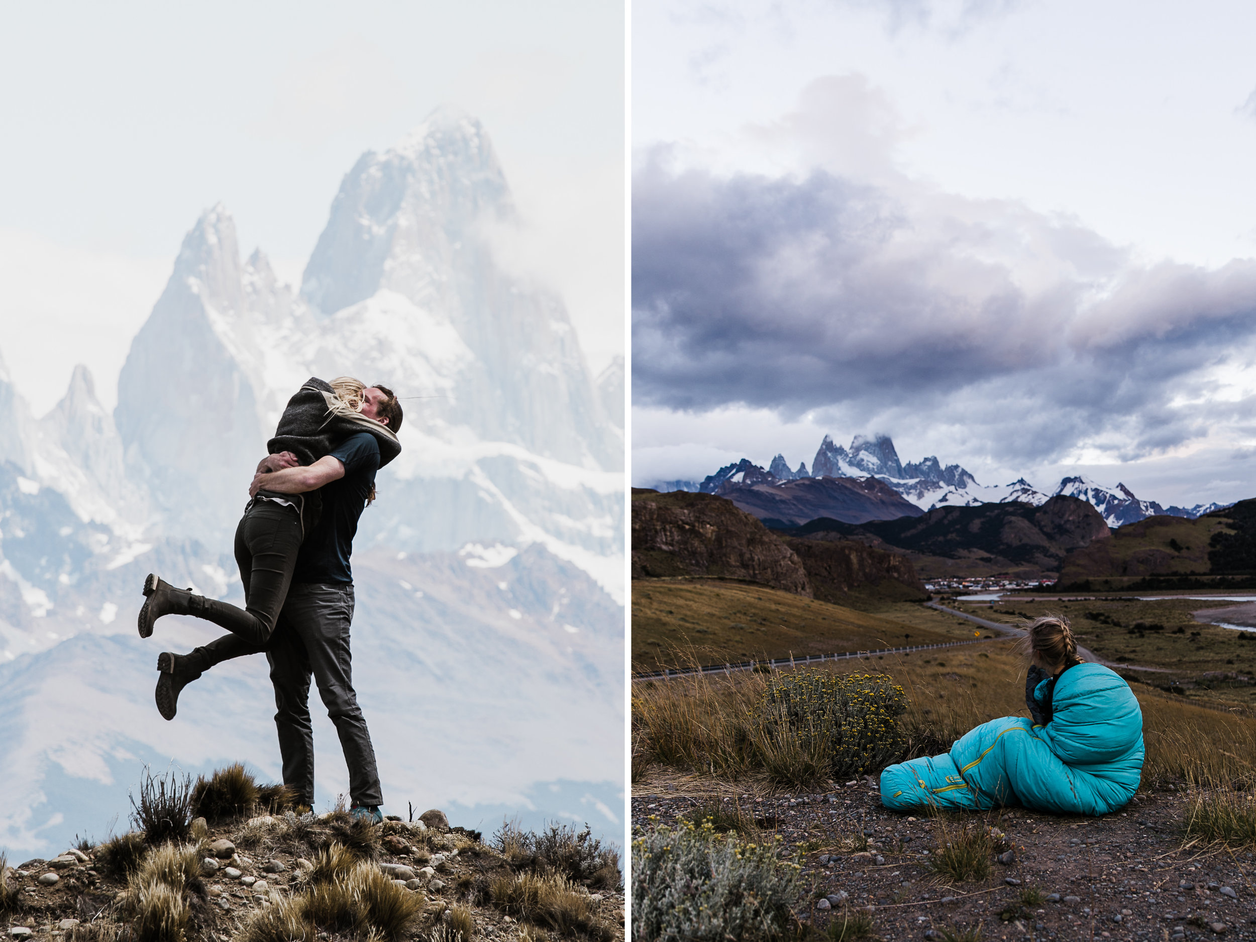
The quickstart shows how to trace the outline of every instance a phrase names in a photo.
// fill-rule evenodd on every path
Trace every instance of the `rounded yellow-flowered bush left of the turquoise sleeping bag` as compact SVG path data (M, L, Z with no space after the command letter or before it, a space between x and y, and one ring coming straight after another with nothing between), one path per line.
M903 755L898 717L906 710L903 688L889 674L782 672L760 698L755 745L784 784L862 775Z

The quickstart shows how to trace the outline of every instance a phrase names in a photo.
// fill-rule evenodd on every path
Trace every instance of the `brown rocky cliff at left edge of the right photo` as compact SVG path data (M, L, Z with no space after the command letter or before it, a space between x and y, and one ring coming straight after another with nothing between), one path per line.
M633 578L712 575L811 595L806 571L780 538L730 501L633 489Z

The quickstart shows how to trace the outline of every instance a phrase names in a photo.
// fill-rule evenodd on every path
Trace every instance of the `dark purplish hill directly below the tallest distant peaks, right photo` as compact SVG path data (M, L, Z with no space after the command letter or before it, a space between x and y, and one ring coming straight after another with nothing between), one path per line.
M726 481L716 494L774 526L801 526L816 517L862 524L924 512L875 477L803 477L785 484Z

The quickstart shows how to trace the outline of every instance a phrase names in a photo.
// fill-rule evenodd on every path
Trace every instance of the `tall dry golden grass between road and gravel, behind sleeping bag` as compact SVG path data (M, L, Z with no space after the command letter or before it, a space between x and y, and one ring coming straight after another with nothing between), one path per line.
M926 652L921 652L926 653ZM907 692L899 722L907 754L937 755L962 734L999 716L1027 716L1025 662L1011 642L927 652L933 657L884 657L830 662L835 672L884 672ZM766 686L744 672L633 683L633 780L652 764L707 772L721 779L762 777L739 744ZM1208 710L1133 685L1143 708L1144 782L1250 780L1256 769L1256 718Z

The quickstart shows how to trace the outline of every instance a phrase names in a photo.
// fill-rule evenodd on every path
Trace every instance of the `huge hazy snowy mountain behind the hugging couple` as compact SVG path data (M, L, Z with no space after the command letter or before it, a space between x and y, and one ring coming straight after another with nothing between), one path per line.
M157 654L220 631L167 617L141 641L134 620L148 571L242 604L231 540L254 467L296 388L342 374L406 411L353 555L386 806L618 839L623 360L594 379L561 300L497 264L489 235L514 220L484 128L440 111L345 175L299 290L206 211L112 414L79 367L35 420L0 365L0 849L99 828L143 762L279 779L265 661L207 673L167 723ZM325 803L347 774L311 712Z

